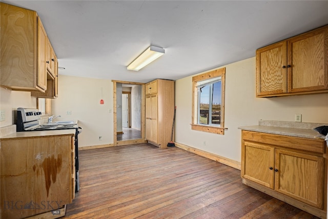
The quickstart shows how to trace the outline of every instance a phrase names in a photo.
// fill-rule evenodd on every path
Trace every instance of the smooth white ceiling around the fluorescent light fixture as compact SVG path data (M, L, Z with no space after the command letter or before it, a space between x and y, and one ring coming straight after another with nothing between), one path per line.
M179 79L255 56L255 50L328 24L328 1L3 1L35 10L59 74L149 82ZM165 54L140 71L150 45Z

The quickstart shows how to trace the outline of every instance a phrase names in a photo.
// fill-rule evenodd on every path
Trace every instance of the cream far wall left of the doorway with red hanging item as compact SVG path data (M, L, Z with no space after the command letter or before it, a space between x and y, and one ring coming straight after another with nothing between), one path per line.
M103 94L101 95L101 88ZM104 104L100 104L104 99ZM108 79L58 76L58 98L51 101L52 114L60 120L78 120L83 128L79 147L112 144L113 83ZM72 111L71 115L66 115ZM103 141L99 141L102 136Z

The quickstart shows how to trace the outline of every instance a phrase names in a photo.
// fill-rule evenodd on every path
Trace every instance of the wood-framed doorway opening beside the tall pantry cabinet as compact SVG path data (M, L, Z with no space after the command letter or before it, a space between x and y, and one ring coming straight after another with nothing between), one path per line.
M114 146L145 143L145 84L114 83Z

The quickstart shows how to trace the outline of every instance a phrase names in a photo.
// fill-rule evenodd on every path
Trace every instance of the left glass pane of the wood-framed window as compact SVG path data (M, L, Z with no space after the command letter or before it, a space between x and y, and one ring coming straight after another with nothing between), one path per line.
M210 85L199 88L199 124L209 124Z

